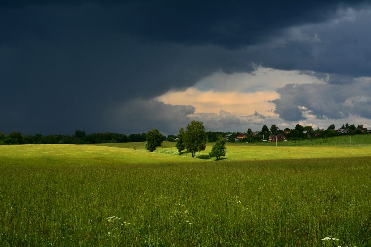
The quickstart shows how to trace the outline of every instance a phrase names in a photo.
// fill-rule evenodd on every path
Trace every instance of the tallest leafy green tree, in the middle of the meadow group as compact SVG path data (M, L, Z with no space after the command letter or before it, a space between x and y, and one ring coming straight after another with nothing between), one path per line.
M203 122L192 120L184 132L185 150L194 158L196 152L206 149L206 138Z

